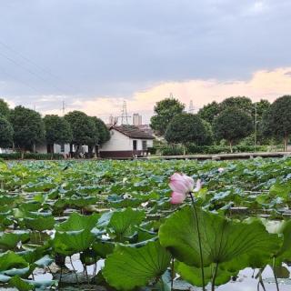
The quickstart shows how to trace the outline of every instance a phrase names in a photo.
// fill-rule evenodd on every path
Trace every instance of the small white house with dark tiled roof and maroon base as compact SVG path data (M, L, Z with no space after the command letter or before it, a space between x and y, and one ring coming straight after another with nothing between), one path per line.
M111 138L99 147L101 157L124 158L147 156L148 147L153 146L154 136L133 125L113 126Z

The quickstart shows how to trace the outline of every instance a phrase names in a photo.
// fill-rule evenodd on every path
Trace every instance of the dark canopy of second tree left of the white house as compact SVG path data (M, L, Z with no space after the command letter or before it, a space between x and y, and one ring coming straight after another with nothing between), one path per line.
M81 111L72 111L65 115L65 120L70 124L76 146L95 146L97 141L95 122L92 117Z

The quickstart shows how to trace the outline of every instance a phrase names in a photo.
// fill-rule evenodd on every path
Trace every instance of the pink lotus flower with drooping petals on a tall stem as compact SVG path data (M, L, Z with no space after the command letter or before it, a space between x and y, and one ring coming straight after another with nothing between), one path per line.
M198 192L202 187L202 183L198 179L196 181L196 188L194 189L194 180L190 176L175 173L171 176L169 186L173 190L171 203L179 204L186 199L187 194L190 192Z

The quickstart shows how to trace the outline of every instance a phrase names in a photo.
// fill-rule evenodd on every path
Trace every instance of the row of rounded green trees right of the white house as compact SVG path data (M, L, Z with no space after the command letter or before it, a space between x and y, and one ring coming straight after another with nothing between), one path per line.
M225 140L232 147L244 138L252 145L283 141L287 149L291 135L291 95L253 103L246 96L232 96L221 103L212 102L197 114L189 114L176 98L156 103L151 127L169 144L210 146Z

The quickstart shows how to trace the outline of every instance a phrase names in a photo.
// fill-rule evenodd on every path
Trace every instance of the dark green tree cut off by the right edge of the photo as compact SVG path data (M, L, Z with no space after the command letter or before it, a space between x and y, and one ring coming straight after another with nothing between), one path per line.
M283 138L286 151L291 135L291 95L277 98L264 115L263 123L265 135Z

